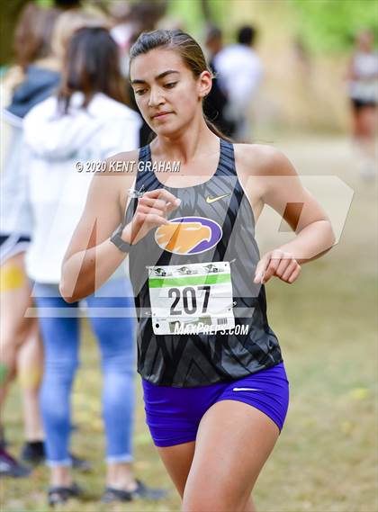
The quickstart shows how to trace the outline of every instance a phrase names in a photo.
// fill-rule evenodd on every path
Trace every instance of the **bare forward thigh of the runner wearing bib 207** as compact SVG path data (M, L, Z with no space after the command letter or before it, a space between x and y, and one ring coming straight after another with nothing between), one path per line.
M243 511L278 436L258 409L237 400L215 403L198 430L184 512Z

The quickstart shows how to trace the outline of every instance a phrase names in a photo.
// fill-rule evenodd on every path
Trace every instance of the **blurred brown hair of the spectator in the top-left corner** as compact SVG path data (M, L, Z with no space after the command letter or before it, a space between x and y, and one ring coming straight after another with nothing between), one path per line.
M51 35L60 11L26 4L14 31L17 64L25 68L37 58L49 57Z

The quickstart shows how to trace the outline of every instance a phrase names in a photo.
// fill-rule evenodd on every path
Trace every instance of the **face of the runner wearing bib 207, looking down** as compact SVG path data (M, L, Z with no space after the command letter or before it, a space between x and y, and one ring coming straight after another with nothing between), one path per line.
M210 92L211 76L198 79L171 49L152 49L134 58L130 81L144 119L157 134L169 136L187 126L196 112L202 115L202 98Z

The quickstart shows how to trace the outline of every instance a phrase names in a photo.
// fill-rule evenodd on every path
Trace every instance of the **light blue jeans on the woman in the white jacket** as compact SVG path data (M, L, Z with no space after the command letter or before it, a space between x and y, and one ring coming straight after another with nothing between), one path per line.
M34 301L40 314L45 350L40 409L46 434L49 466L70 465L70 394L79 365L78 302L67 304L56 284L35 283ZM133 308L130 283L114 279L86 299L91 328L100 346L103 371L103 422L107 463L132 460L131 438L135 405ZM103 310L103 308L105 310ZM106 308L117 311L109 318ZM58 313L58 314L57 314ZM95 371L95 370L94 370Z

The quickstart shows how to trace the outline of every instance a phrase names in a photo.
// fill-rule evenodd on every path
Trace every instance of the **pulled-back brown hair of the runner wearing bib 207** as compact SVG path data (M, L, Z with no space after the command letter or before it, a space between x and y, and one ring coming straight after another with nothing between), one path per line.
M198 78L202 71L209 71L212 76L211 69L207 65L206 58L203 55L201 46L193 37L180 30L158 30L150 32L142 32L139 38L130 48L130 63L139 55L148 53L151 49L173 49L184 60L184 65L193 73L194 78ZM218 128L206 117L203 112L203 118L208 128L221 139L230 139L226 137Z

